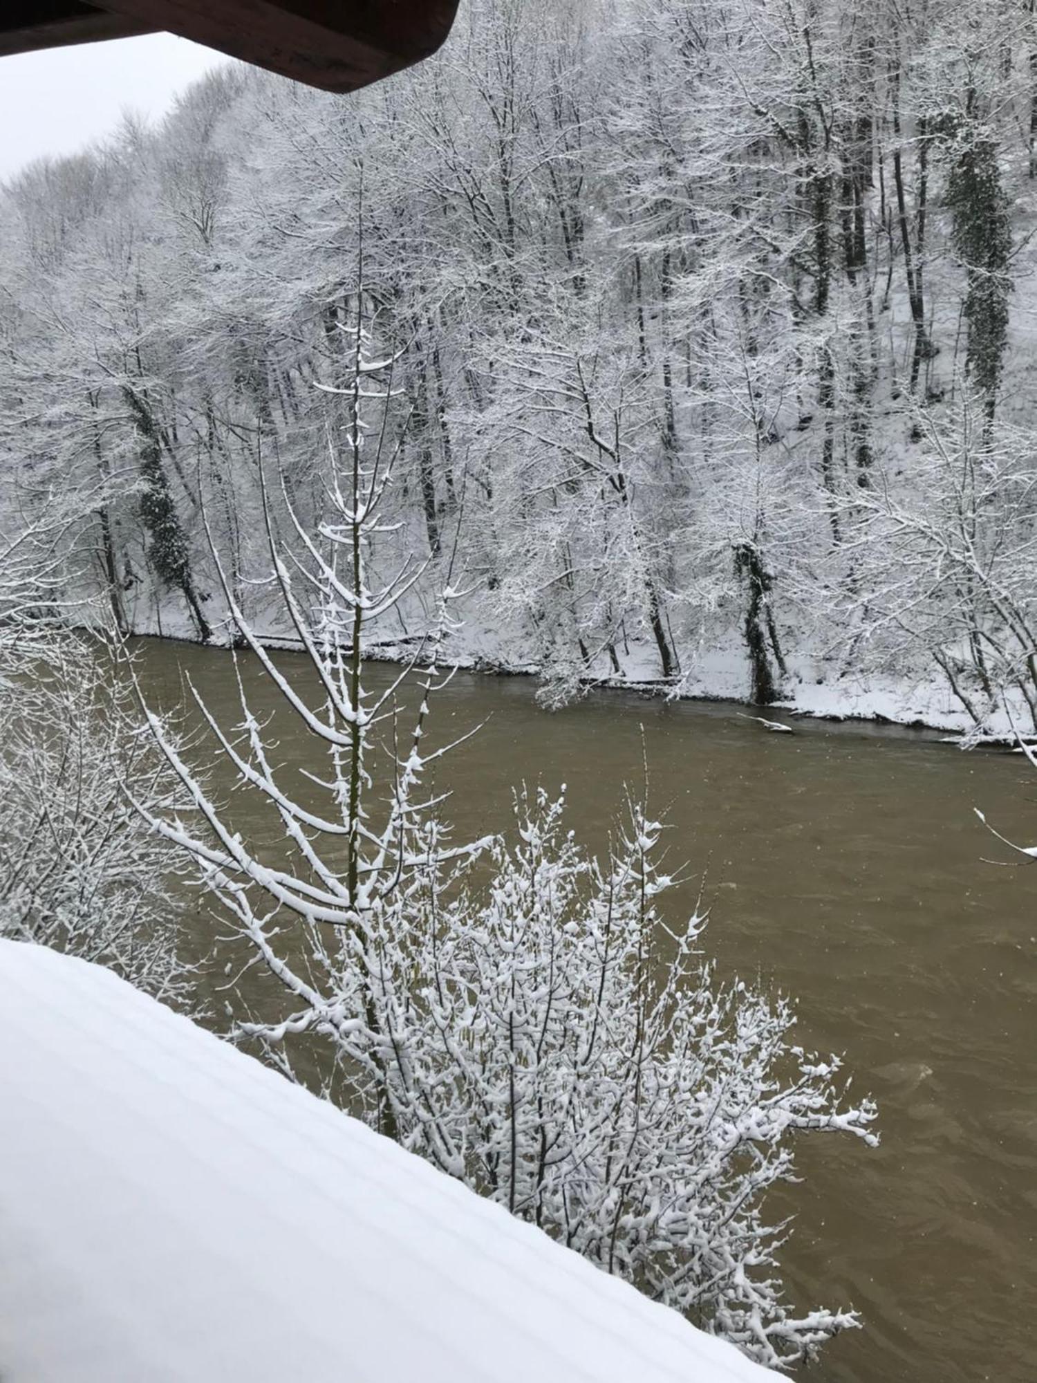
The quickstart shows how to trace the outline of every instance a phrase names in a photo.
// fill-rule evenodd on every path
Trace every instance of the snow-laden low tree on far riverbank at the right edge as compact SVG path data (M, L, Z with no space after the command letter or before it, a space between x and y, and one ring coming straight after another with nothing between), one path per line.
M882 466L848 513L849 636L878 667L925 650L978 733L1005 696L1037 726L1033 433L994 422L986 391L917 427L911 483Z

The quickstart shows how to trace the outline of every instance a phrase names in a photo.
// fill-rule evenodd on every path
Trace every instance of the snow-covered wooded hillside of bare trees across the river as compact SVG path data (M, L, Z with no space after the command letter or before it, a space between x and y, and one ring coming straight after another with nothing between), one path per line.
M0 194L3 537L84 620L227 640L223 570L263 626L361 321L401 642L448 585L550 701L1029 726L1036 140L1019 0L474 0L351 97L217 69Z

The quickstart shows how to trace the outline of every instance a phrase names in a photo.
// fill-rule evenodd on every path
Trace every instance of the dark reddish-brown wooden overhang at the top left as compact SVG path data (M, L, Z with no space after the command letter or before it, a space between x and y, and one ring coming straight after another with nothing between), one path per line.
M3 0L0 54L166 30L282 76L355 91L434 53L458 0Z

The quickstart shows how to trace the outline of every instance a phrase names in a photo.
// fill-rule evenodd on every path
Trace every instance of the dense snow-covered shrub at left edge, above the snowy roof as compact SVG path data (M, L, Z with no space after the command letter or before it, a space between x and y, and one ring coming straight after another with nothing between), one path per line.
M177 954L178 864L126 790L166 769L141 739L100 646L35 620L0 658L0 935L115 969L187 1000Z

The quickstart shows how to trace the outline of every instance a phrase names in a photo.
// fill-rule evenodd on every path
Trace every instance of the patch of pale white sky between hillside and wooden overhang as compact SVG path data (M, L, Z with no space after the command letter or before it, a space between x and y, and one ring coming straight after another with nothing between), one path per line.
M0 57L0 178L41 154L75 154L124 109L158 119L173 97L227 59L171 33Z

